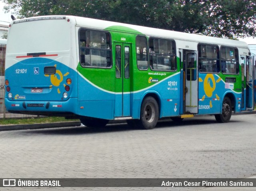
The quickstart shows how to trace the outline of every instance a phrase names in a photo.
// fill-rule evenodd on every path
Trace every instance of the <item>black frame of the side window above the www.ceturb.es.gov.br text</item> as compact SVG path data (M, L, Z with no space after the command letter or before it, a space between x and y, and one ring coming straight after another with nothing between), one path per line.
M150 39L157 39L157 40L166 40L166 41L170 41L170 42L174 42L174 64L175 64L175 70L157 70L157 69L152 69L151 65L150 65L150 51L149 51L149 40ZM160 49L160 47L158 47L158 49ZM157 55L171 55L171 54L160 54L160 53L155 53ZM176 42L174 39L167 39L167 38L159 38L159 37L154 37L154 36L150 36L148 37L148 64L149 64L149 68L151 71L163 71L163 72L176 72L178 70L178 65L177 65L177 53L176 53Z

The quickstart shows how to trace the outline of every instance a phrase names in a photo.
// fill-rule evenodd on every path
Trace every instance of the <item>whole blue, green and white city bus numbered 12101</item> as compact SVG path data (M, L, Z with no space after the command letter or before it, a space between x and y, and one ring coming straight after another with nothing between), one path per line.
M254 57L243 41L76 16L10 23L5 104L9 112L79 118L85 126L126 120L152 129L254 109Z

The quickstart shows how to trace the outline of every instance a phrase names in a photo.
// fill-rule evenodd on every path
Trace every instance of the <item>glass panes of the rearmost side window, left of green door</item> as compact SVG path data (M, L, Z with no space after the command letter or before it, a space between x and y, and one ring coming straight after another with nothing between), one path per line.
M102 31L79 31L82 67L111 67L110 34Z

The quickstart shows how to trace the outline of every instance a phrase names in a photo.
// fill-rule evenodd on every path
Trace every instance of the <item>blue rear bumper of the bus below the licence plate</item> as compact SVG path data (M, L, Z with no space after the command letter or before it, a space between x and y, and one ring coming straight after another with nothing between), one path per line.
M5 106L12 113L37 113L37 112L70 112L76 113L77 98L66 101L11 101L5 98Z

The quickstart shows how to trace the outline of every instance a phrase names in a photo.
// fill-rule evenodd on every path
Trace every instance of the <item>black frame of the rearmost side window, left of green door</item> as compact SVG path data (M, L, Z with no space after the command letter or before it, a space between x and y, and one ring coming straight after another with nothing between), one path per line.
M84 30L84 31L95 31L95 32L104 32L104 33L108 33L109 34L109 51L110 51L110 67L99 67L99 66L88 66L88 65L82 65L81 64L81 54L80 54L80 48L81 48L81 42L80 42L80 31L81 30ZM79 62L80 62L80 66L82 68L97 68L97 69L112 69L113 67L113 55L112 55L112 38L111 38L111 34L110 32L108 31L105 31L105 30L94 30L94 29L91 29L91 28L84 28L84 27L80 27L79 30L78 30L78 48L79 48ZM100 49L100 48L90 48L90 47L85 47L85 49ZM103 49L102 50L106 50L108 51L108 49Z

